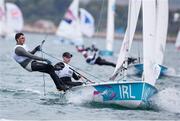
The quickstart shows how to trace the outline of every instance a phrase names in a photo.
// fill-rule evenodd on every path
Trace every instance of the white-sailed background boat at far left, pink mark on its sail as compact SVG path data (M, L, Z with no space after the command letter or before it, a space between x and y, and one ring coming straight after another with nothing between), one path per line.
M14 3L0 2L0 35L12 38L23 29L24 19L20 8Z

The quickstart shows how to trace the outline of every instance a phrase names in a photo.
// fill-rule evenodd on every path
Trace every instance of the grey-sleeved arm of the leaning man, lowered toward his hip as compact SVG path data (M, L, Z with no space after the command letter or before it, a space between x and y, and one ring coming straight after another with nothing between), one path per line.
M35 56L33 54L31 54L30 52L27 52L23 47L17 47L15 50L15 53L19 56L25 56L28 57L30 59L34 59L34 60L39 60L39 61L46 61L46 59Z

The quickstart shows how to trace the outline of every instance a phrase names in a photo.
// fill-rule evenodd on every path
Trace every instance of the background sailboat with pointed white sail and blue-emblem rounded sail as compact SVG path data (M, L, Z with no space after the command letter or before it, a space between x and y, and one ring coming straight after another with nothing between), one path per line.
M83 35L90 37L94 34L92 15L85 9L80 9L80 15L79 0L73 0L56 31L62 43L81 46L84 44Z

